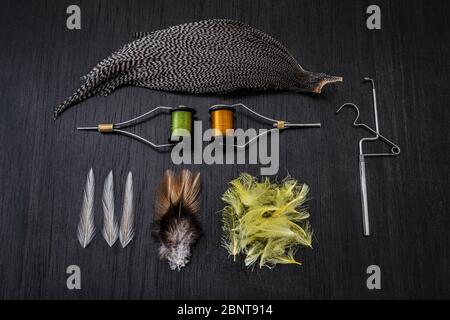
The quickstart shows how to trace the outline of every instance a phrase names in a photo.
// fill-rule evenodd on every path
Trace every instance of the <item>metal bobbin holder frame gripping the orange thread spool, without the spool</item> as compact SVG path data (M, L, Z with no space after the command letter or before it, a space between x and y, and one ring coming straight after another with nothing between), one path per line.
M234 147L237 148L246 148L250 143L252 143L253 141L259 139L260 137L269 134L270 132L274 131L274 130L284 130L284 129L288 129L288 128L320 128L322 126L321 123L291 123L289 121L286 120L276 120L276 119L272 119L269 117L266 117L252 109L250 109L249 107L247 107L246 105L244 105L243 103L236 103L236 104L216 104L211 106L209 109L213 109L213 108L220 108L220 107L225 107L225 108L238 108L241 107L245 110L247 110L248 112L250 112L251 114L257 116L260 119L265 120L267 123L272 125L272 129L267 130L263 133L258 134L256 137L251 138L249 141L247 141L246 143L244 143L243 145L233 145Z

